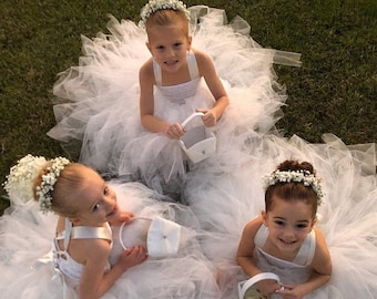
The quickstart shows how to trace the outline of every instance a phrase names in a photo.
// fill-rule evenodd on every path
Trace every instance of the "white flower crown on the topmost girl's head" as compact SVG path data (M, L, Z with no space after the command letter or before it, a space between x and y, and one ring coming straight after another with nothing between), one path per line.
M190 21L190 11L182 1L177 0L150 0L141 10L140 24L145 27L147 19L157 10L172 9L180 10L186 14L187 21Z

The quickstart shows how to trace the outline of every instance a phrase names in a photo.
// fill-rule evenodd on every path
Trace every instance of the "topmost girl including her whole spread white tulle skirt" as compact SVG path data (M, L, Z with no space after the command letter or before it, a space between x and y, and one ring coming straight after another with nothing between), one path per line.
M70 102L54 106L58 124L48 134L64 146L82 141L80 161L101 173L180 194L190 163L182 123L203 112L195 122L215 134L216 154L188 168L233 172L230 157L251 150L251 137L273 126L285 101L271 70L282 52L262 49L247 27L177 0L147 2L140 25L112 18L111 34L83 39L81 65L54 84Z

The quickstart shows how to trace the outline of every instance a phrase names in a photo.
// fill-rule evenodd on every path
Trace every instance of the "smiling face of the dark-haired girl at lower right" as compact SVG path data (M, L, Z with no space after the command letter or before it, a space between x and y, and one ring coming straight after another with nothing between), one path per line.
M295 255L315 224L312 205L302 200L286 202L276 196L271 210L263 213L263 219L273 250L282 256Z

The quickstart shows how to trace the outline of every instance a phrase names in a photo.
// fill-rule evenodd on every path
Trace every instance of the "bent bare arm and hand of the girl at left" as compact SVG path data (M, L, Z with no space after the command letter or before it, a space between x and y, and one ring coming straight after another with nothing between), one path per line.
M115 283L124 271L146 259L145 248L135 246L124 250L119 261L106 272L110 244L102 239L85 241L86 260L80 278L80 299L101 298Z

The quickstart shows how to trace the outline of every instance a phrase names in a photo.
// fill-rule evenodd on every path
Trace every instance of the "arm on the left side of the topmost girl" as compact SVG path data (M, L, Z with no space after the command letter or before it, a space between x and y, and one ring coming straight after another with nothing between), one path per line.
M140 120L152 133L163 133L170 138L180 138L184 130L180 124L170 124L154 116L154 74L152 59L146 61L139 72L140 82Z

